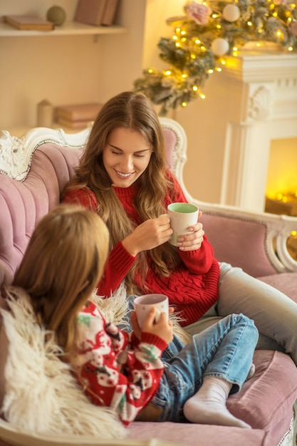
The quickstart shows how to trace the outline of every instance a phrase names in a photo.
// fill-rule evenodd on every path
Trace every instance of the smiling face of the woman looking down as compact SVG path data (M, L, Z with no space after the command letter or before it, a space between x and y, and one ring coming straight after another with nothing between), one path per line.
M147 168L152 149L141 133L115 128L103 149L103 164L116 187L129 187Z

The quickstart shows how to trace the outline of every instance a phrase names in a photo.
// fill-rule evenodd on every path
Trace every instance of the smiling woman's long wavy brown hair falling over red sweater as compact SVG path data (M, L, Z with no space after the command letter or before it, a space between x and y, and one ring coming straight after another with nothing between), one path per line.
M140 219L152 219L166 212L165 196L169 189L174 201L172 182L167 178L165 140L157 113L149 99L142 93L126 91L108 100L99 111L90 131L80 165L75 176L68 183L69 189L89 187L98 199L98 214L107 224L110 232L110 249L125 239L133 230L131 222L113 190L108 173L103 165L103 149L108 135L115 128L129 128L139 132L152 149L149 165L137 180L139 192L134 207ZM168 276L170 270L179 264L176 250L169 244L152 249L150 256L153 267L160 276ZM134 274L138 272L145 281L147 274L147 255L139 253L137 261L125 278L128 294L138 294L134 284Z

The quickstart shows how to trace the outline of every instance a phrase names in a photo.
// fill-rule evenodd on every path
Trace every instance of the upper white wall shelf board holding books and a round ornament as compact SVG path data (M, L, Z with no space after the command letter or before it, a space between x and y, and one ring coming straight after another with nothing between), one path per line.
M4 22L0 23L0 37L24 37L24 36L79 36L90 34L98 36L100 34L121 34L127 33L127 28L123 26L91 26L79 24L75 21L68 21L62 26L56 26L52 31L36 31L16 29Z

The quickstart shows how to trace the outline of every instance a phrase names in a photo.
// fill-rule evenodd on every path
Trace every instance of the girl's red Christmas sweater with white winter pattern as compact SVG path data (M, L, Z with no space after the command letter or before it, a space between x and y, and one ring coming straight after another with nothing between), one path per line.
M78 318L78 355L74 365L85 393L96 405L118 413L124 425L135 420L160 384L167 344L142 333L135 350L130 335L107 323L93 304Z

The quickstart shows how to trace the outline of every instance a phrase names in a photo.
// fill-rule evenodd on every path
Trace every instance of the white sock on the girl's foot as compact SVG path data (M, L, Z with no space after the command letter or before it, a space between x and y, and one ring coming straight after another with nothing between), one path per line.
M251 426L234 417L226 408L232 384L222 378L206 377L201 388L184 404L187 420L207 425L246 427Z

